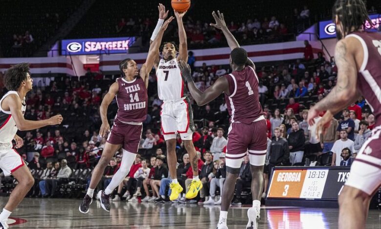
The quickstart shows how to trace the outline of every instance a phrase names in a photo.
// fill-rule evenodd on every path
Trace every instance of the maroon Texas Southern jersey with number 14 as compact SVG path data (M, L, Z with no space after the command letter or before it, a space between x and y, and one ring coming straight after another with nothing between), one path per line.
M119 91L116 95L118 113L115 119L122 122L143 122L147 117L148 95L146 84L140 76L132 81L117 78Z

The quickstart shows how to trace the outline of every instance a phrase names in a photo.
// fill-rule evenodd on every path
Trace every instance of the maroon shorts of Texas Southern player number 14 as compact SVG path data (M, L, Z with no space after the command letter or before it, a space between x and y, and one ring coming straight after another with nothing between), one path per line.
M111 127L107 142L113 145L122 145L130 153L138 153L139 142L142 137L143 125L141 123L124 123L116 120Z

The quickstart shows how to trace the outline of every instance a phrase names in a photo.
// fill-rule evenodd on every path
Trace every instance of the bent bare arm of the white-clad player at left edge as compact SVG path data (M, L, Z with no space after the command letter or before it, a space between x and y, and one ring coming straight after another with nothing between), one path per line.
M6 106L9 106L12 117L16 122L17 129L20 131L30 131L44 126L58 125L63 121L62 115L55 115L49 119L31 121L26 120L21 112L21 99L18 95L8 95L4 100Z

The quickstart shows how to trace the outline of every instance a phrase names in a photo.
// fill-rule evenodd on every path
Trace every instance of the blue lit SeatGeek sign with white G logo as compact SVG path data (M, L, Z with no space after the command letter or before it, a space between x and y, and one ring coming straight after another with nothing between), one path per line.
M135 40L135 37L62 40L61 55L127 53Z

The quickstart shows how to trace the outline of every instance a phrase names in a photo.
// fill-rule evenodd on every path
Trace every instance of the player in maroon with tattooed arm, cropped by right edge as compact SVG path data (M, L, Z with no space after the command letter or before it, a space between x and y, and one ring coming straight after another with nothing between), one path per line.
M356 102L360 94L376 116L377 127L361 147L339 193L339 229L363 229L370 200L381 185L381 34L363 31L372 22L362 0L337 0L333 20L339 39L335 48L338 81L310 109L308 122L314 124L314 117L327 111L317 124L317 133L325 131L332 117Z

